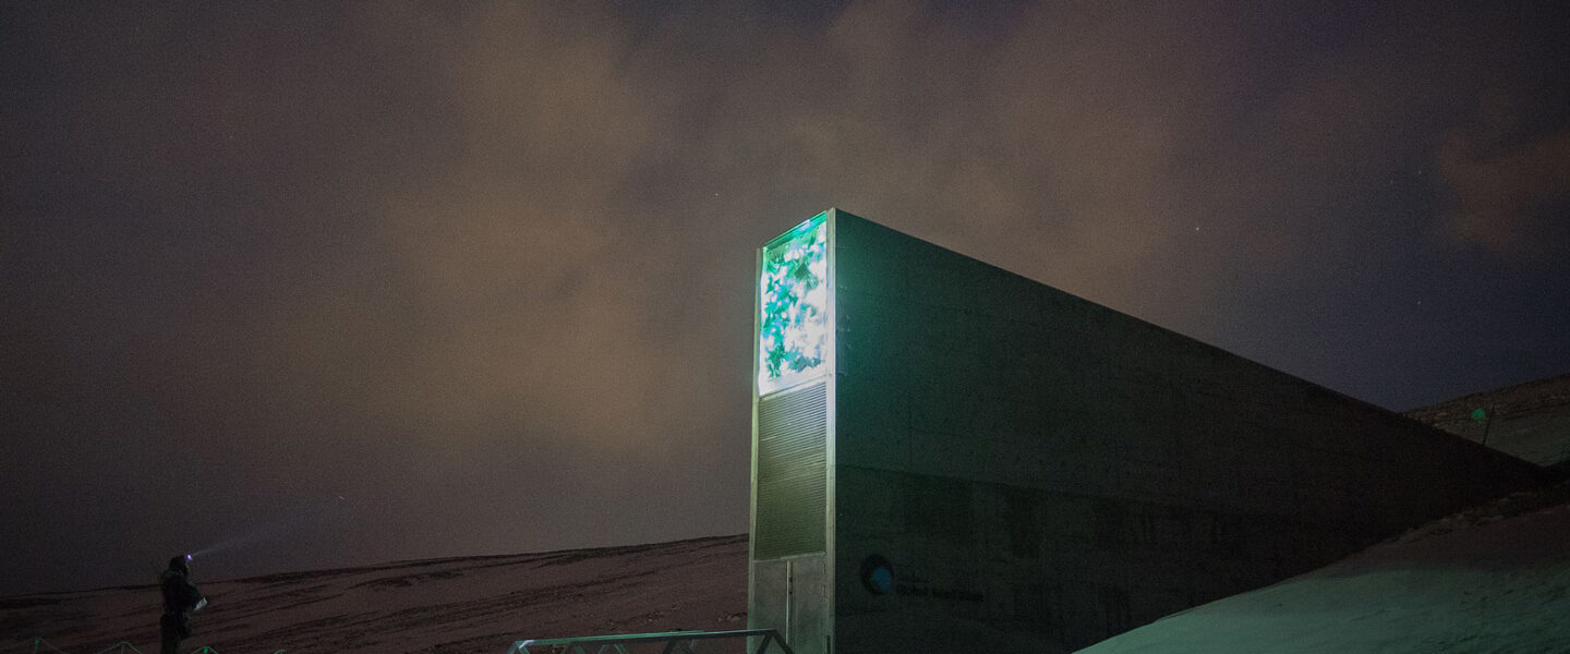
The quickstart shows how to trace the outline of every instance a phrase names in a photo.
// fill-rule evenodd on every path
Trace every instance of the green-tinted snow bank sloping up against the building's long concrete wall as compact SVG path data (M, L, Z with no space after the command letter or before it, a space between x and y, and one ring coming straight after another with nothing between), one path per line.
M1570 485L1080 649L1146 652L1570 652Z

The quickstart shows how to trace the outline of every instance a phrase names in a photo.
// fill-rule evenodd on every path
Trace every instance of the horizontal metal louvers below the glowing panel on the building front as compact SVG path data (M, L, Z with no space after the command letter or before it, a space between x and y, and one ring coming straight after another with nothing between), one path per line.
M824 550L827 384L758 400L758 514L754 557Z

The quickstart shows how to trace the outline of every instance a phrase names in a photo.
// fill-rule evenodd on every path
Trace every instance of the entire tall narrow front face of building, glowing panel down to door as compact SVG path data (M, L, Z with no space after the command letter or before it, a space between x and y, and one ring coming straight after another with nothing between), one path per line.
M834 651L835 224L818 213L758 249L747 624Z

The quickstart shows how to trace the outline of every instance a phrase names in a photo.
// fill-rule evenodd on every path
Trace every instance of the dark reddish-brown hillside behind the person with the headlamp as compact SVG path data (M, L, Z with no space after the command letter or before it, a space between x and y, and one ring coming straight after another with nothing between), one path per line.
M212 605L196 635L220 654L502 654L513 640L741 629L747 538L506 557L438 558L196 582ZM0 599L0 652L35 635L69 654L121 640L157 652L155 587Z

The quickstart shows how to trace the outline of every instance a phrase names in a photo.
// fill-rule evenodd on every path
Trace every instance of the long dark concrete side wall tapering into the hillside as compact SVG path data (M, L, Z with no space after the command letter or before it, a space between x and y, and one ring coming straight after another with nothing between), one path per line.
M835 216L835 651L1071 651L1535 466ZM857 576L882 555L895 588Z

